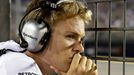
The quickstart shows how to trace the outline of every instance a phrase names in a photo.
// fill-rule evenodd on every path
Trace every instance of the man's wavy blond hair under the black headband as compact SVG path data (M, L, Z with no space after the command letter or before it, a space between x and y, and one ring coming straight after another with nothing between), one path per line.
M31 11L34 7L39 5L41 0L33 0L28 6L26 12ZM45 12L47 8L43 10L32 11L27 18L35 18L38 15L42 15L43 19L50 25L54 27L55 23L61 20L65 20L74 16L79 16L86 24L91 20L91 11L80 1L66 0L58 4L58 10L52 10L50 13ZM43 12L41 12L43 11Z

